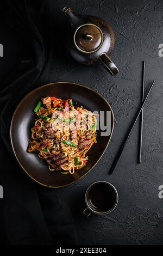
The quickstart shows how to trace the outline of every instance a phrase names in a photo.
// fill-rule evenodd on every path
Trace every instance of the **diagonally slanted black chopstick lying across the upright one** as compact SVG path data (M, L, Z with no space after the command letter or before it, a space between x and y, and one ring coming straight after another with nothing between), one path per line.
M151 84L151 87L150 87L149 90L148 90L148 93L147 93L147 95L146 95L146 97L145 97L145 100L143 100L142 105L140 106L139 111L137 112L136 117L135 117L135 119L134 119L134 121L133 121L133 124L131 125L130 130L127 132L127 135L126 135L126 137L125 137L125 139L124 139L124 141L123 141L123 143L122 143L122 146L121 146L120 150L118 151L117 156L116 156L114 162L112 163L112 166L111 166L111 168L110 168L110 170L109 170L109 174L112 174L112 173L114 172L114 169L115 169L115 167L116 167L116 164L117 164L118 160L120 159L120 156L121 156L121 154L122 154L122 152L123 152L123 149L124 149L124 147L126 146L126 144L127 144L127 142L128 142L128 139L129 139L129 137L130 137L130 135L131 135L131 132L132 132L133 129L134 129L134 126L135 126L135 124L136 124L137 119L139 118L139 115L140 115L140 113L141 113L141 111L142 111L142 109L143 109L143 106L145 105L145 103L146 103L146 101L147 101L147 99L148 99L148 96L149 96L149 94L151 93L151 90L152 90L152 87L154 86L154 83L155 83L155 80L154 80L153 83Z

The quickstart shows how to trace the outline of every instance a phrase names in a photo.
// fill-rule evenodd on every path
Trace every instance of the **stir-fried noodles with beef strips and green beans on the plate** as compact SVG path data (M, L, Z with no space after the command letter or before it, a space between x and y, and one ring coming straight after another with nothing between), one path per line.
M34 112L37 119L27 151L35 151L45 159L51 171L73 174L84 167L87 151L97 143L96 115L83 107L74 107L72 99L52 96L41 99Z

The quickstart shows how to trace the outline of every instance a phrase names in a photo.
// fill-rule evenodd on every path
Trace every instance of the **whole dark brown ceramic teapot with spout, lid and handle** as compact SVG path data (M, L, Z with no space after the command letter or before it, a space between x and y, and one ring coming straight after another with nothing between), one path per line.
M118 73L110 59L115 36L104 20L76 14L70 7L63 9L68 20L66 48L73 59L85 65L102 63L112 76Z

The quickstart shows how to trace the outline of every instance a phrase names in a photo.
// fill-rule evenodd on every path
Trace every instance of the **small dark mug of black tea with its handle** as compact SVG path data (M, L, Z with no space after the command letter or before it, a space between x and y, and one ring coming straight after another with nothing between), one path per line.
M86 191L85 202L87 208L84 214L107 214L114 210L118 202L116 188L106 181L98 181L92 184ZM91 212L90 212L91 211Z

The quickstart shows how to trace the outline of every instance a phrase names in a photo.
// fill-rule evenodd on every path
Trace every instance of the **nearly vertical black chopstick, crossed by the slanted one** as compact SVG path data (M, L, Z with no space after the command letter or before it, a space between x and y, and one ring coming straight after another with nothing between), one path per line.
M142 102L144 100L144 94L145 94L145 62L143 62ZM141 115L140 115L140 142L139 142L138 163L141 163L141 153L142 153L143 112L144 112L144 108L142 108Z

